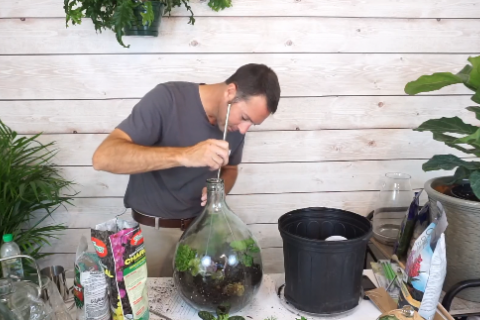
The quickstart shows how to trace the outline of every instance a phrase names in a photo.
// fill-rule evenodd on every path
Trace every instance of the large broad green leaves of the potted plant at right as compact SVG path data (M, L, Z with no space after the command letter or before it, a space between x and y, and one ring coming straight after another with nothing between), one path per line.
M421 92L440 90L452 84L463 84L473 91L471 100L480 104L480 56L469 57L468 61L470 64L456 74L438 72L423 75L417 80L407 83L405 93L415 95ZM479 106L470 106L466 109L475 113L476 119L480 120ZM480 127L467 124L459 117L428 120L414 130L432 132L433 139L466 154L480 157ZM469 179L473 193L480 199L479 161L465 161L452 154L435 155L422 166L424 171L453 170L455 168L457 169L449 184Z

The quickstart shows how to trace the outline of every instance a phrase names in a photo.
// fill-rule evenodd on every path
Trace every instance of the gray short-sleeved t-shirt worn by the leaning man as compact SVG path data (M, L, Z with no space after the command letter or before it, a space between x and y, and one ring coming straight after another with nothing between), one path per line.
M188 147L207 139L222 140L218 126L208 122L200 100L199 84L167 82L157 85L133 108L117 128L144 146ZM242 160L244 135L229 132L229 165ZM176 167L130 175L125 207L162 218L182 219L197 216L202 189L217 171L208 167Z

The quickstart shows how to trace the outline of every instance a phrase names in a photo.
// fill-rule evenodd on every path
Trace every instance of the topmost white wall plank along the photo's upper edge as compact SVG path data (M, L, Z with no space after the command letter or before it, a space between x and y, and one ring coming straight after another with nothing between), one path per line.
M196 17L201 16L330 16L395 18L478 18L476 0L235 0L233 6L212 11L206 1L191 0ZM187 16L184 7L172 12ZM0 18L65 17L61 0L0 0ZM185 19L185 23L187 23Z

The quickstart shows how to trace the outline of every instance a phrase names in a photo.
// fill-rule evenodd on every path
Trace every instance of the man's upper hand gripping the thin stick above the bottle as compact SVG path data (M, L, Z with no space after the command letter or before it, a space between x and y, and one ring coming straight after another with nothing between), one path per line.
M209 139L185 148L181 163L185 167L209 167L218 170L228 164L229 145L227 141Z

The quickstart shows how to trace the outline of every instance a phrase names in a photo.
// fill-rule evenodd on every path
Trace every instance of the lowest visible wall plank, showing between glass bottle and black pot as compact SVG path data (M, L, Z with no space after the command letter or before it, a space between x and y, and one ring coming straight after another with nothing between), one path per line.
M61 265L61 266L64 266L66 269L73 269L74 263L75 263L74 253L54 254L39 260L39 265L41 268L53 266L53 265ZM282 248L263 249L262 263L263 263L263 271L266 273L283 272L283 249Z

